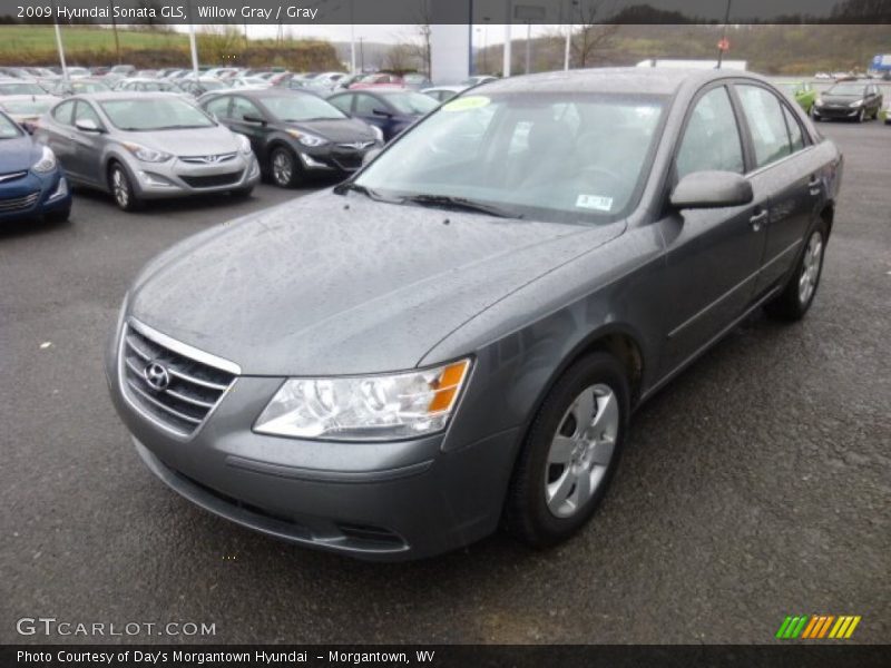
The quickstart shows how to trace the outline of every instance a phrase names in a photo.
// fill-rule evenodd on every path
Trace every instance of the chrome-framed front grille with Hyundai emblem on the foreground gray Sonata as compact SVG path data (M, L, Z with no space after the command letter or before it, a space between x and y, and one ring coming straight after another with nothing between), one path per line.
M188 436L214 410L235 375L172 351L131 326L125 326L121 347L128 399L172 431ZM149 384L147 370L166 370L163 389Z

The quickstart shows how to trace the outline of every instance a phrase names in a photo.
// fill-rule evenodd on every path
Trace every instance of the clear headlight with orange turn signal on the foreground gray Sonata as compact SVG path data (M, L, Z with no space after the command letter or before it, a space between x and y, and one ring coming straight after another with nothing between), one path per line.
M378 376L291 379L254 431L327 441L381 441L441 431L458 402L470 360Z

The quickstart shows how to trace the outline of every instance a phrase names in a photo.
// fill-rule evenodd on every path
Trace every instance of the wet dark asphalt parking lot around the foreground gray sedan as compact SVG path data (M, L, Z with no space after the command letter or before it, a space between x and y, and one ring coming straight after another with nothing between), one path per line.
M891 127L819 127L846 165L810 315L750 318L642 409L595 521L548 552L493 537L362 563L217 519L140 463L101 366L128 283L301 193L137 215L78 193L68 224L0 229L0 642L90 640L16 632L39 616L216 625L140 642L768 642L799 613L887 642Z

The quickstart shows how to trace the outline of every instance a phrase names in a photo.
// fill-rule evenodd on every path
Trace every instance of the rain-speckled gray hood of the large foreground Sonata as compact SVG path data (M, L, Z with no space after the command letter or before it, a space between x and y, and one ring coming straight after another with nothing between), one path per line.
M129 313L246 375L412 369L487 307L624 229L329 190L183 242L144 269Z

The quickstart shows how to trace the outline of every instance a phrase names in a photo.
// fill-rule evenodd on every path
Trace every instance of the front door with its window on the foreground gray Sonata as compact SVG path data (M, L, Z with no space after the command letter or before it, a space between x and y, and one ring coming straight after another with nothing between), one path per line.
M744 174L746 148L731 88L718 84L693 101L677 146L674 184L696 171ZM770 194L758 189L744 206L669 210L666 242L666 346L669 373L751 304L764 255Z

